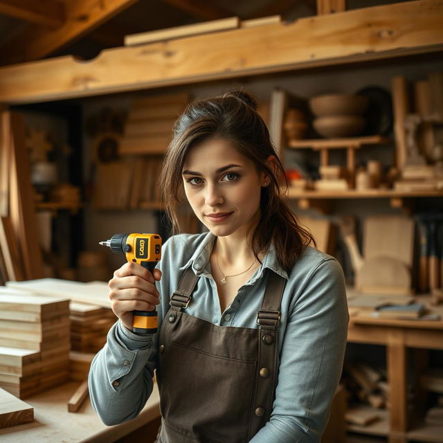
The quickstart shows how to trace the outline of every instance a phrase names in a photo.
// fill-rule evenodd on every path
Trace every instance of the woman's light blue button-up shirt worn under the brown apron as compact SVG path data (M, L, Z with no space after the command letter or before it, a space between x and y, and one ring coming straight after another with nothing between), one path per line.
M348 313L340 264L334 257L308 247L288 275L271 246L253 277L221 312L210 273L214 240L212 234L203 233L176 235L165 242L158 265L162 271L157 282L161 294L159 325L188 266L200 278L186 312L221 326L256 328L266 287L264 270L272 269L287 278L278 331L279 374L273 411L251 442L318 442L345 352ZM145 405L152 392L156 339L157 334L132 334L120 322L109 330L107 343L96 355L89 373L93 408L105 424L132 419Z

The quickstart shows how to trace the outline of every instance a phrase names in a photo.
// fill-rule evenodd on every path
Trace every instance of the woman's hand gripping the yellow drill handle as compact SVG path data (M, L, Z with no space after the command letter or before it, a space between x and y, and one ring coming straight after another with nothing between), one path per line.
M132 331L132 311L153 311L155 305L159 305L155 280L160 279L159 269L154 269L152 274L139 264L127 262L109 280L111 308L129 331Z

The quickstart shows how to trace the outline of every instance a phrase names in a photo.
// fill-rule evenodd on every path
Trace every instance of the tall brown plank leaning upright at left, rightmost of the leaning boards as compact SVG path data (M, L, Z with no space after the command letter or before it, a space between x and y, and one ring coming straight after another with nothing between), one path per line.
M12 147L10 155L10 216L14 235L19 239L25 278L43 275L43 257L39 244L35 192L30 183L30 159L25 143L24 118L10 114Z

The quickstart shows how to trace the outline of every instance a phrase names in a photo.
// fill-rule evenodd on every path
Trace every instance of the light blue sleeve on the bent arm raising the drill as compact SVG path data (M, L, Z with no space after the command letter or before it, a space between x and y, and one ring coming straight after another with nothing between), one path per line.
M138 336L120 320L109 329L107 343L89 370L91 404L104 424L135 418L153 388L157 334Z

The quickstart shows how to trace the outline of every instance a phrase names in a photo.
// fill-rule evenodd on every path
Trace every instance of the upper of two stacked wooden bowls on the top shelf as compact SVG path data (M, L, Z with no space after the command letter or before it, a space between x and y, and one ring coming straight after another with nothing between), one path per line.
M359 116L368 107L369 99L354 94L327 94L309 100L309 107L316 117Z

